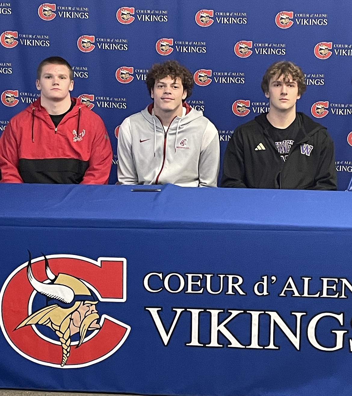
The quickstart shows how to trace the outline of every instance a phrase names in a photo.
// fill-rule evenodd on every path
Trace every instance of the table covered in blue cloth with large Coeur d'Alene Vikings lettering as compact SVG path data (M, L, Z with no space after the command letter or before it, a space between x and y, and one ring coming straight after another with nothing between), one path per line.
M0 388L350 395L350 192L134 187L0 185Z

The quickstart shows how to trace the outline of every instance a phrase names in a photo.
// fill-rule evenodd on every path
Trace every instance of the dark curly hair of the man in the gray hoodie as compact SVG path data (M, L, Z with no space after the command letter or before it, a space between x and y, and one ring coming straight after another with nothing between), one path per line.
M151 94L151 90L154 89L155 82L167 76L170 76L174 80L176 80L177 77L180 77L183 89L187 89L186 99L192 95L192 88L194 85L193 75L186 67L180 65L178 61L154 63L154 65L149 70L145 80L149 94Z

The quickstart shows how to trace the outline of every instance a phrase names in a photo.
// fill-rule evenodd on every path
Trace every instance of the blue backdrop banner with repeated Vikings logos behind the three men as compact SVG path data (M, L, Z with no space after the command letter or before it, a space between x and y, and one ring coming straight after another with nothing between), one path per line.
M277 60L302 67L308 89L297 109L329 129L339 189L352 175L350 3L268 1L0 2L0 133L39 93L36 67L49 56L73 66L73 95L117 127L151 102L145 74L177 59L194 73L189 104L218 128L223 157L233 130L268 110L260 89Z

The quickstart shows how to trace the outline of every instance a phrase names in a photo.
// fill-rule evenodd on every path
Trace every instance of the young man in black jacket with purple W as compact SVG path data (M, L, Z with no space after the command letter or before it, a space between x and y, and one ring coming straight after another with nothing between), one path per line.
M327 129L296 112L296 101L306 90L302 69L275 62L261 87L270 110L233 133L221 186L336 190L334 143Z

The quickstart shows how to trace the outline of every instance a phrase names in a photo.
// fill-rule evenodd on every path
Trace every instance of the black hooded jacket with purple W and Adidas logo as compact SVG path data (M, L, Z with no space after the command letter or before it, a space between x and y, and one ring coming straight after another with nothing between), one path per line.
M236 128L224 157L221 187L336 190L334 143L327 129L297 112L299 130L285 162L266 114Z

